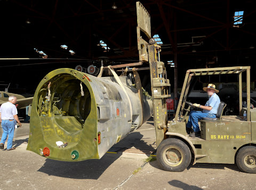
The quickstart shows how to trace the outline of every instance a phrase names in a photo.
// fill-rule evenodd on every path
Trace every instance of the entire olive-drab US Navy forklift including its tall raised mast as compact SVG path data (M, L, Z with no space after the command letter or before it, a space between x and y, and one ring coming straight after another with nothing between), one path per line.
M150 15L137 2L137 40L141 63L148 63L156 131L157 162L167 171L183 171L190 163L236 163L243 172L256 173L256 109L250 107L250 66L200 68L186 72L180 99L172 120L167 119L166 98L170 82L166 68L160 61L161 46L151 38ZM144 33L149 41L140 34ZM145 36L144 35L144 36ZM242 106L242 74L246 73L247 107ZM225 102L218 108L217 118L199 121L201 138L190 137L186 123L191 106L187 102L189 86L193 76L238 74L239 115L222 116ZM244 111L247 114L243 118Z

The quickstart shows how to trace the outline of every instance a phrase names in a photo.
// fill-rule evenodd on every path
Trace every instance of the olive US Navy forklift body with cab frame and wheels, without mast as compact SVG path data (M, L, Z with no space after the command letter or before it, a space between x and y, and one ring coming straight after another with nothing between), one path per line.
M246 73L247 107L242 107L242 74ZM191 106L187 102L193 76L238 74L239 115L222 116L225 102L220 102L217 118L200 120L201 138L190 137L186 123ZM244 111L246 118L242 116ZM157 148L157 161L164 170L183 171L190 162L236 163L244 172L256 173L256 109L250 107L250 66L202 68L188 70L183 83L177 111L167 121L164 139ZM161 129L157 130L161 133ZM158 135L157 135L158 136Z

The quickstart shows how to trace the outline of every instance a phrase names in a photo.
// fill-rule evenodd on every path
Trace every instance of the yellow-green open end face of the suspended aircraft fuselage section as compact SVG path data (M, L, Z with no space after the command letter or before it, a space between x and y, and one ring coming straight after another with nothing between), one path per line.
M27 150L63 161L98 159L97 105L91 76L62 68L39 83L30 115Z

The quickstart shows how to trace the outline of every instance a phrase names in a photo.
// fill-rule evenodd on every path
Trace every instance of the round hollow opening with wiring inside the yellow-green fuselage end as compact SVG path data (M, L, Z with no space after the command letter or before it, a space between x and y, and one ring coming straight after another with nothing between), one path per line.
M91 111L91 94L86 85L72 75L63 74L46 82L38 98L38 115L52 117L68 134L81 131Z

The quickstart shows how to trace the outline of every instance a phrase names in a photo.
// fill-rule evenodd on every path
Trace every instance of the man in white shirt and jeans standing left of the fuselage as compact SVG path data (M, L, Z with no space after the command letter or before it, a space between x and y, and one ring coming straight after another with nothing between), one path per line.
M14 135L14 128L16 122L18 122L21 127L20 120L18 118L18 111L15 106L17 103L17 98L14 96L9 97L9 102L3 103L0 107L0 122L2 123L3 135L0 142L0 149L4 149L4 143L8 137L7 150L14 150L15 147L12 147L12 140Z

